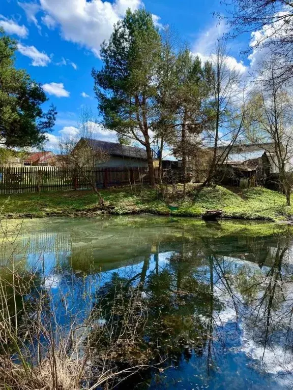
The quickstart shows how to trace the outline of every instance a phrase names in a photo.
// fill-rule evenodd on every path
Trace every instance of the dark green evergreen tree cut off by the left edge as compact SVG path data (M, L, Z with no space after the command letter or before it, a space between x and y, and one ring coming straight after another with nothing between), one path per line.
M0 29L0 143L8 147L35 146L51 131L56 110L44 113L47 101L40 84L15 68L16 42Z

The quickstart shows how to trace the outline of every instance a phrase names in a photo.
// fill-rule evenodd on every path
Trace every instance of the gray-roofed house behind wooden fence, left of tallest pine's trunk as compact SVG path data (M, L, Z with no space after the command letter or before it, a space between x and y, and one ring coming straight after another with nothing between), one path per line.
M99 151L107 153L104 162L96 161L97 167L148 167L147 152L135 146L81 138L74 150L80 150L80 148L91 148L94 153Z

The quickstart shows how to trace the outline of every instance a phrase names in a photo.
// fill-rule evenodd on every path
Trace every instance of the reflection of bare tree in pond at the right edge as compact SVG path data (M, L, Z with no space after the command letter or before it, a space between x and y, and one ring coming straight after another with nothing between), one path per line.
M293 267L288 246L289 242L280 238L272 252L270 267L263 267L261 272L256 269L250 277L244 277L243 270L239 270L235 279L247 305L243 316L246 337L261 347L259 358L265 370L268 365L282 367L284 371L293 369Z

